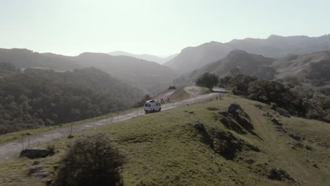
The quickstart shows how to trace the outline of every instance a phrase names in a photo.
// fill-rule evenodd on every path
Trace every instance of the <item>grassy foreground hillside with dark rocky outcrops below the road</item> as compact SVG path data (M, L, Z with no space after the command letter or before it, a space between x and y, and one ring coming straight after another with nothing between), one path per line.
M225 112L233 102L242 107L239 117L247 123ZM272 118L283 126L274 125ZM205 130L193 127L197 121L204 123ZM329 123L285 118L265 104L230 94L218 101L147 114L78 132L73 139L40 144L54 145L56 154L1 162L0 182L44 185L54 178L59 160L76 138L98 132L111 137L128 156L121 169L124 185L330 184ZM34 161L40 161L49 178L27 175ZM285 171L287 180L271 180L274 168Z

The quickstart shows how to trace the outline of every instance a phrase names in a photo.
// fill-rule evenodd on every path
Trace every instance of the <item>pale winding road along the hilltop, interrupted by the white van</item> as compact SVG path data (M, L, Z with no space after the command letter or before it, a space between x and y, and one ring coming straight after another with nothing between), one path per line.
M224 89L214 89L213 93L210 94L202 94L200 96L192 97L189 99L184 99L182 101L176 101L169 104L163 104L161 106L161 110L169 110L173 109L179 106L184 106L186 104L193 104L200 101L205 101L207 99L212 99L219 95L220 92L226 92ZM80 123L78 125L73 125L73 132L79 132L81 130L85 130L88 128L93 128L100 125L106 125L110 123L116 123L122 120L128 120L130 118L134 118L137 116L144 115L143 109L136 109L135 111L132 111L130 113L114 116L113 118L108 119L102 119L102 120L95 120L90 121L86 123ZM71 131L71 127L65 127L65 128L59 128L55 130L50 130L47 132L43 132L39 135L32 135L29 137L25 137L23 140L16 140L13 142L7 142L5 144L0 144L0 161L3 161L4 159L9 159L13 157L15 154L17 154L19 151L21 151L23 148L27 147L34 147L39 143L42 142L48 142L51 140L55 140L61 137L67 137ZM23 141L23 142L22 142Z

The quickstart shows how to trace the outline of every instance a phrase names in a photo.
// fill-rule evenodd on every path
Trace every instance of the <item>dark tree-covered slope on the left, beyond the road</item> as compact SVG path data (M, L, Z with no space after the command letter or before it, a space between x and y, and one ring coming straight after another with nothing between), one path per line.
M13 69L0 79L0 134L121 111L141 97L139 89L95 68Z

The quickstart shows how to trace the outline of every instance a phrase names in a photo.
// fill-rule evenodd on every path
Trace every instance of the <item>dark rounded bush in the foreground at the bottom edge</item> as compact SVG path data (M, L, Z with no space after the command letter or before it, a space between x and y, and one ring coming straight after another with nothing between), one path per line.
M125 156L111 145L111 140L98 134L75 142L61 161L55 185L123 185L118 168Z

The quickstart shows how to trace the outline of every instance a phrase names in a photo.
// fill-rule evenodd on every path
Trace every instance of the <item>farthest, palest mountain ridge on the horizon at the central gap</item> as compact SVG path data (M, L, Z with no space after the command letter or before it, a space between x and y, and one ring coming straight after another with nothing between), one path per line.
M135 58L140 58L144 59L146 61L154 61L159 64L163 64L167 61L170 61L172 58L174 58L178 54L172 54L171 56L167 56L165 58L159 57L159 56L154 56L150 54L132 54L126 51L111 51L107 53L111 56L130 56L130 57L135 57Z

